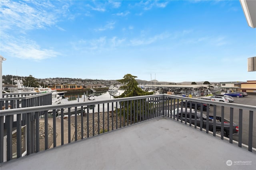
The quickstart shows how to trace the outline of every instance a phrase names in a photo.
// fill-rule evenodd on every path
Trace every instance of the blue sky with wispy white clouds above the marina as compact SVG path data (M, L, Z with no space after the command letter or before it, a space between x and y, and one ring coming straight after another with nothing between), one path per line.
M238 0L0 1L2 74L246 81L256 29Z

